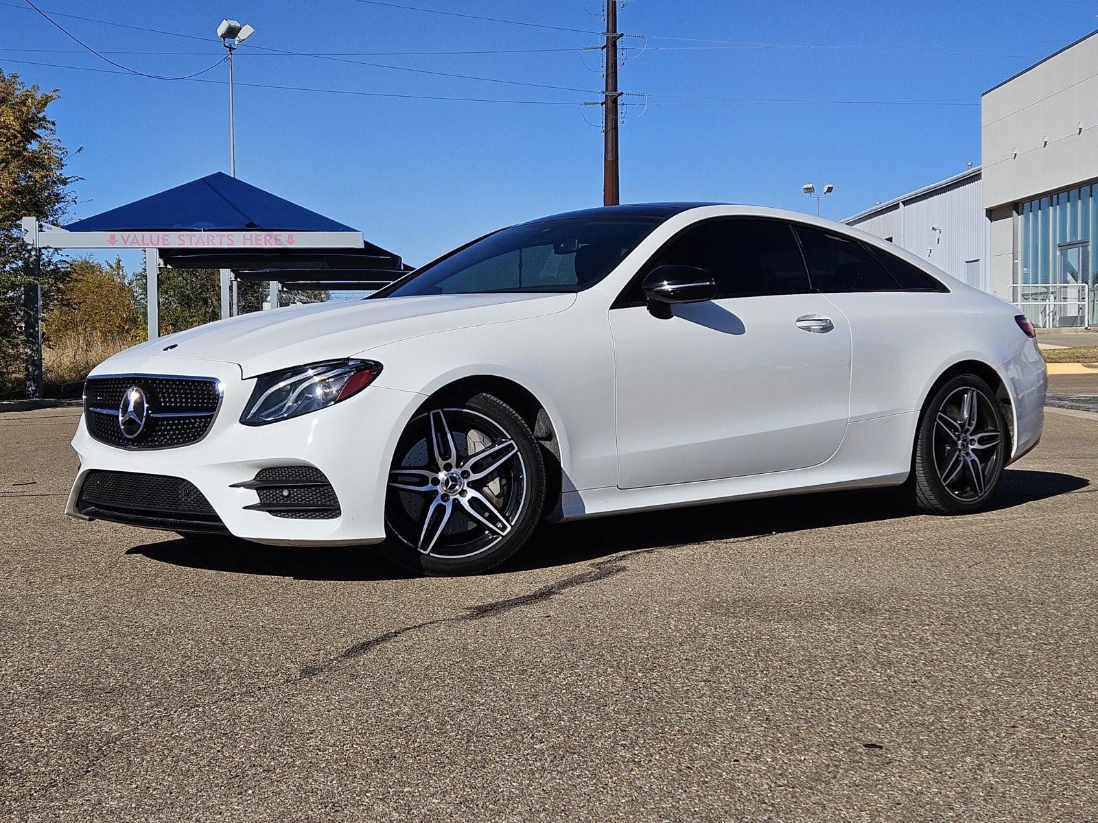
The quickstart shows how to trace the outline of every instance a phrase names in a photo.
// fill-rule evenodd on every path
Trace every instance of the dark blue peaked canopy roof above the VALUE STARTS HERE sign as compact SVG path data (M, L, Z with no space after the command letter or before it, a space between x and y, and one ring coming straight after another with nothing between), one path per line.
M355 232L224 172L65 226L70 232Z

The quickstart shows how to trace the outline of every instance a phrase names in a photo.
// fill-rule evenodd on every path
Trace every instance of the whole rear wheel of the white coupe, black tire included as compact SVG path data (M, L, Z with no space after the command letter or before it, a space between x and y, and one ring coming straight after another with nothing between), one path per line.
M975 374L951 377L922 410L905 491L928 515L978 511L995 495L1009 443L1002 408L987 382Z

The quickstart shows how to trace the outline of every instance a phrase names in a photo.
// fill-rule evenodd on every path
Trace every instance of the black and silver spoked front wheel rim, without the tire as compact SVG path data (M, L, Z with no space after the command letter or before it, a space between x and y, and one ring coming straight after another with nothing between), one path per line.
M522 453L502 426L469 408L432 409L397 447L386 521L421 554L468 557L511 532L526 485Z

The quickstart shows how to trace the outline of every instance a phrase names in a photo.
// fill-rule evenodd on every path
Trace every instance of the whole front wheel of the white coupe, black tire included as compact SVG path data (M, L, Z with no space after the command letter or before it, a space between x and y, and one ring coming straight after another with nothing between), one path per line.
M433 401L397 441L379 549L422 574L481 574L526 544L545 494L541 449L511 406L483 393Z

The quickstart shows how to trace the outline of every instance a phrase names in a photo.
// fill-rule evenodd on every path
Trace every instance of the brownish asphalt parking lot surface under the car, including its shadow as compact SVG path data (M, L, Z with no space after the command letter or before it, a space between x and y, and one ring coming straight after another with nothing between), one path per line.
M994 509L887 492L547 528L484 577L67 519L0 414L0 818L1098 816L1098 416Z

